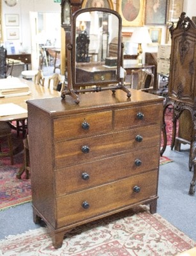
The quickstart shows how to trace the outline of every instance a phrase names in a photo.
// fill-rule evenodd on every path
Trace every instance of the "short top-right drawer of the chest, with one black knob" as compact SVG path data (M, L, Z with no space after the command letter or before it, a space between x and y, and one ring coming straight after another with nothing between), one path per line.
M147 125L152 123L161 124L162 115L162 104L119 109L114 113L114 129L130 128L134 125Z

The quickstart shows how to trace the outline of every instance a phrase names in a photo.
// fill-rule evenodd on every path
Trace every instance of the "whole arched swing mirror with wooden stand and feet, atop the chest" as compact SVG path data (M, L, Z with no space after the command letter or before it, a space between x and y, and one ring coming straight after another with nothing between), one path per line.
M68 90L79 103L80 92L124 90L120 15L107 8L86 8L73 13L71 32L66 32Z

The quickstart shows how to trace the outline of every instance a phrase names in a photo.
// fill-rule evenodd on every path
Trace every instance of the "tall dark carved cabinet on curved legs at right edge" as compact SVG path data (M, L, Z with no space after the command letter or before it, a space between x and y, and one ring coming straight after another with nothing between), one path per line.
M189 168L194 167L193 180L190 185L189 193L195 192L196 179L196 25L181 13L176 28L171 27L171 54L170 54L170 73L168 86L168 99L164 107L165 110L173 106L173 134L171 148L177 143L190 143ZM164 117L163 115L163 117ZM188 119L187 119L188 118ZM176 137L177 120L180 120L179 134ZM163 118L163 137L164 145L161 154L167 145L165 120ZM180 147L177 145L176 147Z

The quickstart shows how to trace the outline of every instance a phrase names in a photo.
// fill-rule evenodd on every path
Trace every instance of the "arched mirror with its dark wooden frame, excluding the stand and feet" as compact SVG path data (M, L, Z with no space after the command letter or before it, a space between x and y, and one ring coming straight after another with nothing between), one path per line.
M119 82L121 19L109 9L73 15L73 87Z

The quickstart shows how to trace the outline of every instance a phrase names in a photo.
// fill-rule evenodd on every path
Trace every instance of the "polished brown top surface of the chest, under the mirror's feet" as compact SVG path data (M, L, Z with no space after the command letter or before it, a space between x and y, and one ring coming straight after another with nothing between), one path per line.
M81 113L89 111L102 111L102 109L130 108L145 104L158 104L163 102L163 97L150 93L140 92L139 90L130 90L132 97L128 99L126 93L118 90L112 93L107 90L99 93L85 93L80 95L80 103L75 104L70 96L65 99L61 97L27 100L27 105L33 105L50 115L58 116L63 113Z

